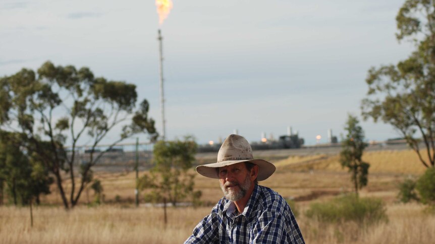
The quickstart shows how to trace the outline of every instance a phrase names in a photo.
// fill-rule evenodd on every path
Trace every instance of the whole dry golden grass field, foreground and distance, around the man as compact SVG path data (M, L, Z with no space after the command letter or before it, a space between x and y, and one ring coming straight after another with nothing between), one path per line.
M307 243L433 243L435 215L425 213L420 204L396 203L397 184L424 172L416 155L410 150L377 151L365 153L364 160L371 167L361 196L383 199L389 217L389 222L367 229L353 223L328 225L303 214L313 201L352 191L350 176L341 168L338 155L292 156L274 162L277 172L260 184L296 201L297 220ZM98 173L95 178L104 188L101 206L84 204L92 201L89 191L83 194L80 206L65 211L53 188L51 195L42 198L45 206L34 208L33 227L29 208L0 207L0 243L181 243L209 213L210 204L222 197L216 180L196 177L204 206L170 207L169 223L164 226L162 208L134 207L133 172ZM118 203L116 196L121 199Z

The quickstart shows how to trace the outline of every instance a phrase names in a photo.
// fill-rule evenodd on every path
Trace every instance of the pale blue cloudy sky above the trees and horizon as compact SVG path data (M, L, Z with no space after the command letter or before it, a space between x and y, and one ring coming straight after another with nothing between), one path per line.
M412 50L394 35L402 4L175 0L161 27L167 137L203 143L238 129L256 141L287 126L307 144L326 142L329 128L340 135L347 113L360 115L368 68ZM158 28L153 0L0 0L0 76L46 60L88 66L136 84L160 130ZM398 135L362 125L369 140Z

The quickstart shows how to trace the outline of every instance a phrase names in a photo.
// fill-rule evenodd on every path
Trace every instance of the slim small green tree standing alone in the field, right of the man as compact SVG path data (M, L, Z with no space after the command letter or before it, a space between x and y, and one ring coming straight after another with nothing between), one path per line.
M370 165L362 161L362 154L367 147L367 143L364 142L364 131L356 117L349 115L345 130L347 135L342 142L343 149L340 152L340 163L342 167L348 168L351 173L355 193L358 196L358 189L368 183L368 168Z

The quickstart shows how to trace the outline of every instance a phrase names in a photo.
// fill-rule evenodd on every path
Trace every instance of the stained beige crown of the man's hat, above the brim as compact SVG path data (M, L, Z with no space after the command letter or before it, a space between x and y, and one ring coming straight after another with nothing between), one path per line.
M217 162L254 159L249 142L240 135L229 135L217 153Z

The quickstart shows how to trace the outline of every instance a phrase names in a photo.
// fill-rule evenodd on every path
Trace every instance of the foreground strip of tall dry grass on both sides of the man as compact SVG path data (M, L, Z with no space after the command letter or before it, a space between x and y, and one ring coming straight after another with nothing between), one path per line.
M30 227L29 208L0 207L0 243L182 243L210 208L168 208L165 228L161 208L38 207ZM326 225L303 214L297 220L306 243L433 243L435 216L422 210L416 204L390 205L390 221L366 230L353 223Z

